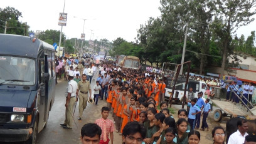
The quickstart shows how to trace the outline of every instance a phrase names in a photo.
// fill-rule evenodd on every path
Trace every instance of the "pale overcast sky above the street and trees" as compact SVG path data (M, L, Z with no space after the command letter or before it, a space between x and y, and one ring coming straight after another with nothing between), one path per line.
M58 16L63 12L64 0L1 0L0 8L6 6L18 9L23 15L20 20L27 22L33 31L61 28ZM149 17L161 15L159 6L159 0L66 0L68 18L63 33L68 38L80 38L82 19L88 19L85 21L85 39L107 38L113 41L120 37L134 41L140 24L146 23ZM238 29L237 35L244 34L247 38L251 31L255 31L255 26L253 21Z

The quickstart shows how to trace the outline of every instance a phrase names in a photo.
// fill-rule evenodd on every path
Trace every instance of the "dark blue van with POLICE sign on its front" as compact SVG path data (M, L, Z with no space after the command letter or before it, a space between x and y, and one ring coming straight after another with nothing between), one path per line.
M36 143L55 100L55 49L40 39L0 34L0 143Z

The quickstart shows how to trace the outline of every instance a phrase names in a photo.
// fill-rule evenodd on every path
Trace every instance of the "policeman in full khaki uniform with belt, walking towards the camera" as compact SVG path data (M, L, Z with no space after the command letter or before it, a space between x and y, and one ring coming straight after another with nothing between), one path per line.
M88 100L88 91L90 92L90 100L92 100L92 90L90 87L90 82L87 81L87 76L85 74L82 75L82 81L78 82L78 88L77 93L79 93L79 118L78 120L81 120L81 117L83 115L83 110L85 110L87 106L87 100ZM78 98L77 98L78 100Z

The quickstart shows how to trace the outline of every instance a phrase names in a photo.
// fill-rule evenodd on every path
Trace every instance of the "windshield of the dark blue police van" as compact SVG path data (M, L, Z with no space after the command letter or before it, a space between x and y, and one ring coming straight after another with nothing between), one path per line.
M0 56L1 85L35 85L35 60Z

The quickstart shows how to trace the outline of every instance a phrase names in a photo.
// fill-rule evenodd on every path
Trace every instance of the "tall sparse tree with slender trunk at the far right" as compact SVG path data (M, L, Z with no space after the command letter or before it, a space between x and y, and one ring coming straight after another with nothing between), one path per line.
M255 0L215 0L215 21L213 33L217 45L222 51L221 76L224 69L227 69L228 56L235 56L234 47L231 46L232 33L235 33L240 26L246 26L254 19ZM237 58L234 58L237 59ZM232 64L237 64L233 61Z

